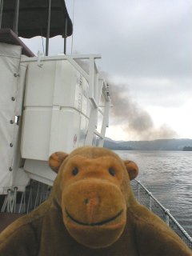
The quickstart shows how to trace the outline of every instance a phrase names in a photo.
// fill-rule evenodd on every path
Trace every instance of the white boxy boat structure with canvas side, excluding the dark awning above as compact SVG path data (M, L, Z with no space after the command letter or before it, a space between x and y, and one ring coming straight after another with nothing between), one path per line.
M30 178L52 185L54 151L102 146L110 97L97 58L27 58L20 46L0 43L0 194L25 190Z

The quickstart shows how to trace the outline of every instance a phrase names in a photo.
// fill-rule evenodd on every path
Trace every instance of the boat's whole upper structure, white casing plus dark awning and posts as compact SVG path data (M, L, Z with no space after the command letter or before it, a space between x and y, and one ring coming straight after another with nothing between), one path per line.
M0 198L5 217L27 211L26 190L34 183L52 186L55 174L47 159L54 151L102 146L110 95L96 65L100 55L35 56L19 38L46 36L47 55L49 38L61 34L65 51L72 22L64 1L1 1L0 10Z

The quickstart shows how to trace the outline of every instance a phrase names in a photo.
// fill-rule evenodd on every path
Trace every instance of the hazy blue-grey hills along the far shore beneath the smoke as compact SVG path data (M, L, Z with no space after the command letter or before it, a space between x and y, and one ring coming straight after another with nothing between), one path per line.
M116 142L106 138L104 147L110 150L183 150L191 147L190 138L157 139L154 141Z

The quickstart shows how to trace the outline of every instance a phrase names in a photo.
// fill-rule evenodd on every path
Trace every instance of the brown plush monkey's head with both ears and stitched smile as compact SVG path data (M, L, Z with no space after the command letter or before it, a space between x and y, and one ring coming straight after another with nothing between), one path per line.
M103 248L120 238L134 197L130 180L138 166L99 147L56 152L49 164L58 173L53 197L70 235L83 246Z

